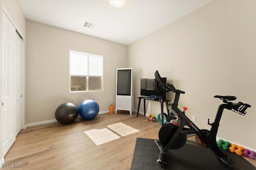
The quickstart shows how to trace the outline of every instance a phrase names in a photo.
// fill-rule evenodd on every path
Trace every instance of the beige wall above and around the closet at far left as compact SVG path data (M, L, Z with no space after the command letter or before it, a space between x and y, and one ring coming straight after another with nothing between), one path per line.
M0 63L2 64L2 11L7 14L11 22L16 27L16 30L22 35L24 39L24 45L26 45L26 18L20 8L20 4L17 0L0 0ZM25 51L24 51L25 53ZM2 66L2 65L1 65ZM2 69L2 67L0 68ZM2 71L2 70L1 70ZM0 91L2 92L2 75L0 77ZM1 93L0 92L0 93ZM0 95L0 103L2 103L2 95ZM2 109L0 109L0 125L2 125ZM0 126L0 139L2 139L2 126ZM0 140L0 163L3 163L2 155L2 140Z

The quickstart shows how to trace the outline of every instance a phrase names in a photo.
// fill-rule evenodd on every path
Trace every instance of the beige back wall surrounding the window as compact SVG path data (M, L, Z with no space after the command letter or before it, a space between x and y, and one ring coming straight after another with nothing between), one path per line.
M69 92L69 49L103 55L103 91ZM60 104L79 107L86 99L97 101L100 112L108 111L116 99L116 69L126 61L127 45L27 20L26 123L55 119Z

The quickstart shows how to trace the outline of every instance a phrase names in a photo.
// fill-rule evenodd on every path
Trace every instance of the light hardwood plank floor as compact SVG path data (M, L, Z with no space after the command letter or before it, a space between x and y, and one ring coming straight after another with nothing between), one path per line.
M119 122L139 132L98 146L84 133L86 130L102 129ZM143 115L137 118L136 113L130 116L126 111L98 115L90 121L76 119L69 125L50 123L28 127L20 131L4 157L5 165L16 163L22 164L22 167L2 169L128 170L136 138L158 139L160 127L158 122L147 121ZM256 161L250 161L256 166Z

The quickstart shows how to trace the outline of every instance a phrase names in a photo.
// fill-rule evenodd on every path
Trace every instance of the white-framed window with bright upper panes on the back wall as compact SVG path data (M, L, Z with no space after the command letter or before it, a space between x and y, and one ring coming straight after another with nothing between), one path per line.
M70 50L70 91L102 91L103 55Z

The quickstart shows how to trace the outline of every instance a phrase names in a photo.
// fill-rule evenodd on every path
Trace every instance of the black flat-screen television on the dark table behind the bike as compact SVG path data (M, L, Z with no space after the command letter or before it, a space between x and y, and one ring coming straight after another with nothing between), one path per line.
M162 77L161 79L166 83L166 77ZM156 90L156 79L154 78L140 79L140 95L148 97L161 96L166 98L166 93L162 95Z

